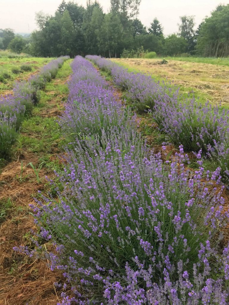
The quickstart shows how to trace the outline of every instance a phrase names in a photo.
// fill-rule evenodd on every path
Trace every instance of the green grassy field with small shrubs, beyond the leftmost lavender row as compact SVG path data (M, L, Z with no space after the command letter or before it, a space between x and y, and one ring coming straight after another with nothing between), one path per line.
M0 57L0 95L11 93L14 81L27 79L52 59L40 57ZM22 65L31 66L31 71L22 70ZM13 73L13 69L18 70L17 73ZM1 76L4 76L5 73L8 74L8 77L2 79Z

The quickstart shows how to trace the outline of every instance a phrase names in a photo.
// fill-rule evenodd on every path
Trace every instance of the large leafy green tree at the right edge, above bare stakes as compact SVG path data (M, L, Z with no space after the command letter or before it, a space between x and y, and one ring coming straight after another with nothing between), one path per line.
M229 5L219 5L200 25L196 50L201 56L229 56Z

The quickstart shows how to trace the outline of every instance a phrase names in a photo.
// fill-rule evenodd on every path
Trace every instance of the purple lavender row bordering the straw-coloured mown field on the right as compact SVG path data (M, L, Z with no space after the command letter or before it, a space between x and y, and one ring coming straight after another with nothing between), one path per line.
M126 69L100 56L87 56L102 70L111 73L114 83L138 104L150 109L151 115L167 141L186 151L198 152L214 159L222 168L225 181L229 170L229 111L221 106L198 103L194 98L181 100L179 89L166 88L150 76L129 73ZM143 108L142 108L143 107Z

